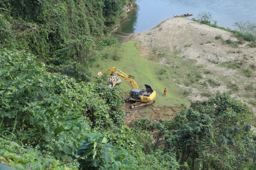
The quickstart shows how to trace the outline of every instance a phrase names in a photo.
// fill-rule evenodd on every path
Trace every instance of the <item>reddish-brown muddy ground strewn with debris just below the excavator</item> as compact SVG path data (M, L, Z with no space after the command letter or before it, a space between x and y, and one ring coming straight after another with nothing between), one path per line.
M170 120L173 119L181 109L179 106L155 106L154 104L131 109L131 102L126 102L124 108L127 124L129 124L133 119L149 118L151 121L159 121L161 119Z

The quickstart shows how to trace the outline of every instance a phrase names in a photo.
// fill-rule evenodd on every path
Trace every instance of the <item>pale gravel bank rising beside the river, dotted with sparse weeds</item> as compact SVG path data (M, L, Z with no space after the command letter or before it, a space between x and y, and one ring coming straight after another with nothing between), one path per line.
M221 39L216 40L216 36L221 36ZM137 43L142 56L156 55L156 51L161 53L162 49L169 53L179 51L178 57L196 60L197 65L204 65L204 68L213 71L215 74L210 75L212 79L221 81L220 77L226 76L227 81L239 88L239 91L233 92L232 96L247 103L256 114L256 108L250 104L256 102L255 91L251 97L244 97L244 94L248 93L244 88L245 85L252 84L252 89L256 89L256 69L254 68L256 48L249 47L248 42L239 42L231 32L181 17L167 19L151 30L134 34L131 40ZM237 42L237 45L232 47L227 40ZM166 60L167 58L162 57L159 62L169 66L170 62ZM243 62L241 68L252 70L250 77L241 74L241 70L219 66L221 63L239 61ZM184 89L192 88L192 93L188 96L192 101L206 99L198 95L200 89L196 86L185 87L180 83L177 86ZM230 89L222 82L217 87L208 87L208 91L216 94L230 91Z

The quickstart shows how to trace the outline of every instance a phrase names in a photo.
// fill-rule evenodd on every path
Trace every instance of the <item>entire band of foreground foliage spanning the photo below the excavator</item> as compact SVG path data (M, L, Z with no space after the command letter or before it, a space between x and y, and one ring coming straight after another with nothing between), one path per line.
M248 107L229 94L194 102L171 121L142 119L127 127L123 93L116 87L49 73L24 51L1 49L0 73L0 166L238 170L256 165Z

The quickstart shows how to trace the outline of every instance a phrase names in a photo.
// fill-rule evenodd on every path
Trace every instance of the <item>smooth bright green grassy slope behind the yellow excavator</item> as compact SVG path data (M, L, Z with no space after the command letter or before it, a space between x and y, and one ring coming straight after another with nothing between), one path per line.
M117 49L117 50L116 50ZM114 52L117 51L119 60L114 60ZM138 49L134 42L129 41L121 43L115 47L106 48L101 51L102 58L97 59L94 62L94 66L90 69L92 75L96 75L99 71L104 73L112 67L117 67L128 75L132 75L135 78L138 86L144 84L151 85L152 89L156 91L156 103L154 106L189 106L190 101L182 95L183 90L177 87L172 80L170 74L167 74L169 70L165 66L148 59L145 59L139 55ZM107 59L104 56L108 55ZM166 70L166 73L160 74L161 70ZM127 95L131 90L131 85L122 80L122 83L118 85L120 89ZM167 96L163 94L164 88L167 88Z

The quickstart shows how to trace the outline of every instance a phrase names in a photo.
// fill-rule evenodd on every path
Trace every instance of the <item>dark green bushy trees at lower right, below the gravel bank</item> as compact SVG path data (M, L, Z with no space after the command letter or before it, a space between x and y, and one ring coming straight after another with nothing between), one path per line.
M183 168L253 169L256 136L250 131L248 107L229 94L191 104L171 121L139 120L133 126L157 132L155 145L176 154ZM156 149L157 147L154 147Z

